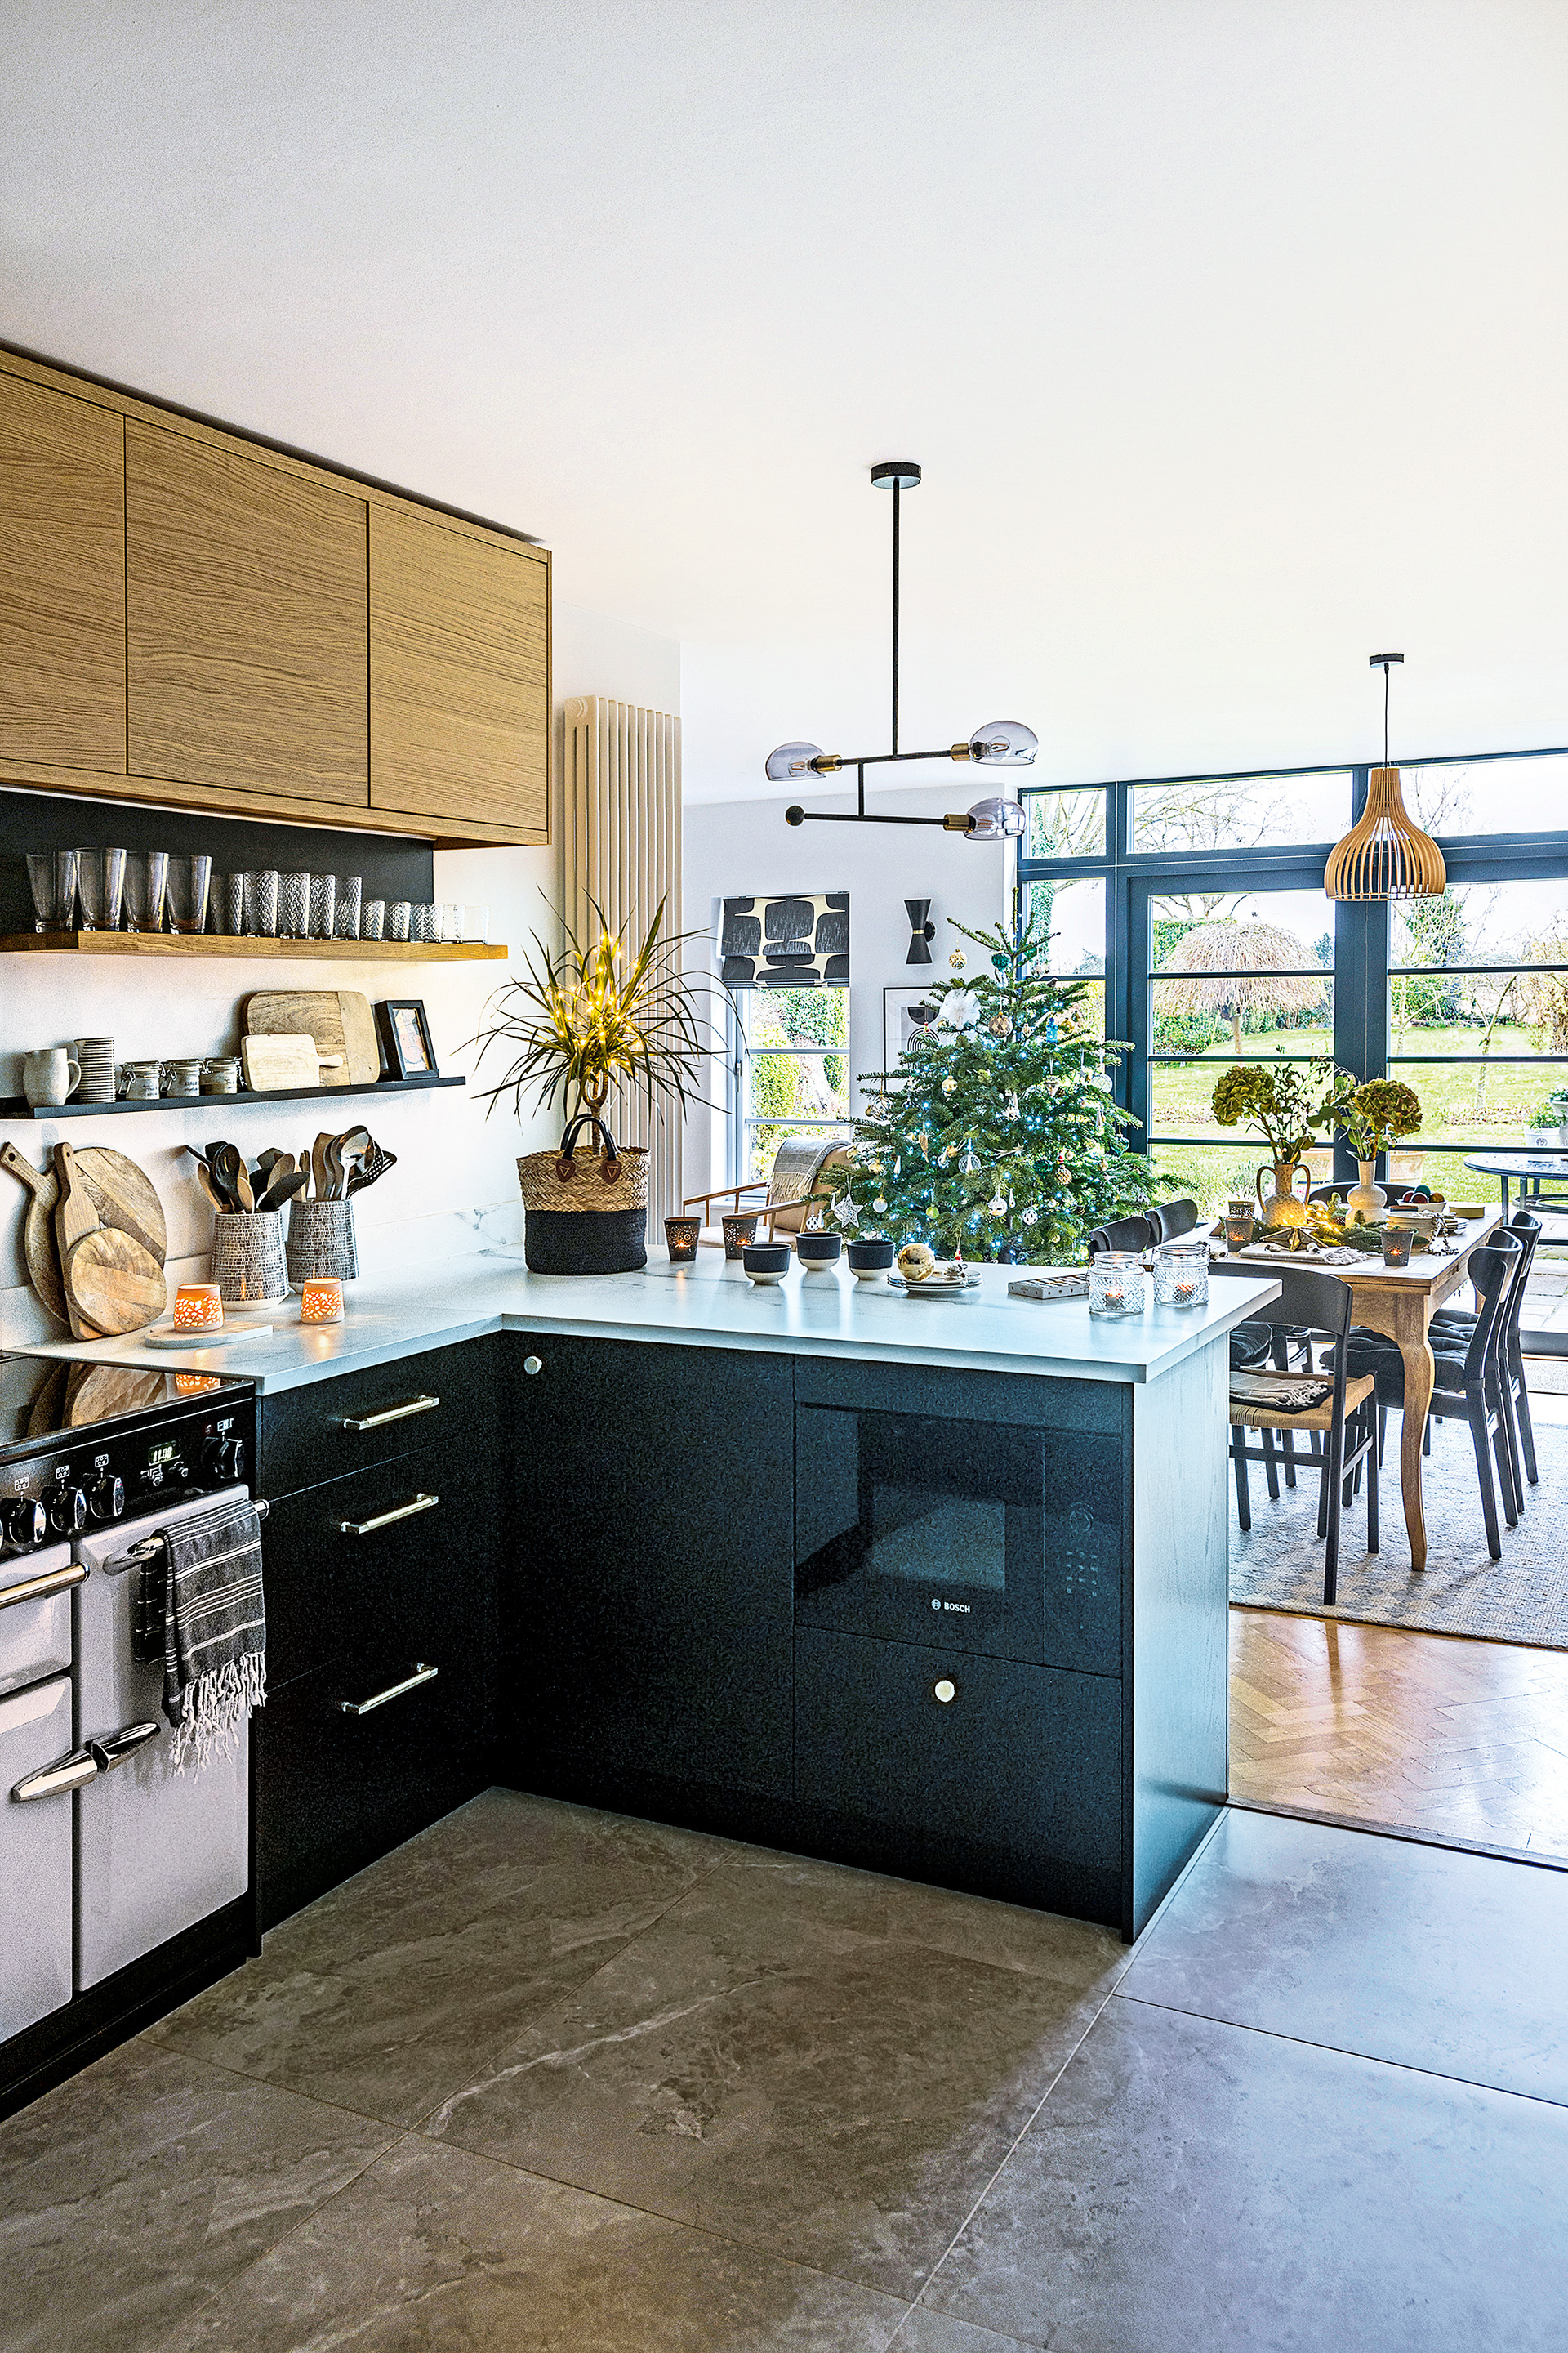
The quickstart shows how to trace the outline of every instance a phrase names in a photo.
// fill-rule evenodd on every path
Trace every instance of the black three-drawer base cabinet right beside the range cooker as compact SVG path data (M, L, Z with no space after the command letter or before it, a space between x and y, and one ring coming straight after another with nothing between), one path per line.
M503 1374L496 1337L261 1400L263 1929L494 1777Z

